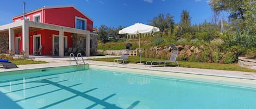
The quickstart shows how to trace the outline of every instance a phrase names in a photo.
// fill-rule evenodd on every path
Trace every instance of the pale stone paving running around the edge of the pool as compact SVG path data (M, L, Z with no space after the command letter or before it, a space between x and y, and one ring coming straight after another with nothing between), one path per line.
M71 64L69 63L69 57L52 57L52 56L29 56L31 60L35 61L46 61L49 63L34 64L34 65L18 65L19 68L14 69L3 69L0 68L0 72L11 71L11 70L22 70L22 69L34 69L34 68L45 68L45 67L58 67L58 66L69 66L76 65L74 58L71 58ZM148 67L145 65L136 65L134 63L127 63L122 65L113 62L103 62L103 61L92 61L90 59L104 58L104 57L120 57L113 55L106 56L88 56L84 57L85 62L90 65L100 65L100 66L110 66L110 67L120 67L120 68L135 68L135 69L149 69L158 70L165 72L178 72L178 73L188 73L188 74L200 74L200 75L213 75L213 76L224 76L231 78L242 78L242 79L252 79L256 80L256 73L253 72L240 72L240 71L229 71L229 70L216 70L216 69L200 69L200 68L184 68L184 67ZM80 59L80 58L79 58ZM82 63L82 61L79 61Z

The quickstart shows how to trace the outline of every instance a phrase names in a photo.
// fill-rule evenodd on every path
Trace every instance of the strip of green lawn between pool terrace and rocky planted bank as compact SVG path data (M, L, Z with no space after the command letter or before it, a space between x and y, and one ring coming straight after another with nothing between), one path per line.
M119 57L92 59L92 60L113 62L114 59L119 59ZM150 60L160 60L160 59L151 59L151 58L141 57L141 63L146 63L146 61L150 61ZM139 62L140 62L139 56L129 56L128 57L127 63L139 63ZM253 70L253 69L240 67L236 63L223 64L223 63L178 61L178 65L180 65L180 67L187 67L187 68L205 68L205 69L222 69L222 70L237 70L237 71L244 71L244 72L256 72L256 70ZM176 65L176 63L166 63L166 66L175 67L177 65Z

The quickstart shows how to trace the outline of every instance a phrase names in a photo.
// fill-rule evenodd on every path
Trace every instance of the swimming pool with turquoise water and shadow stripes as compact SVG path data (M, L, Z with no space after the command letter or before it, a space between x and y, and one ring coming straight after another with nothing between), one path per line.
M102 66L55 69L0 76L0 108L256 108L255 84L240 80Z

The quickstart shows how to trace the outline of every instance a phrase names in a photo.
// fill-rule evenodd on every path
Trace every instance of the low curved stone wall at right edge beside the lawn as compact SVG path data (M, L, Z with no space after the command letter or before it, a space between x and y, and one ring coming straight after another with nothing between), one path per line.
M249 59L248 57L238 57L237 64L241 67L256 69L256 60Z

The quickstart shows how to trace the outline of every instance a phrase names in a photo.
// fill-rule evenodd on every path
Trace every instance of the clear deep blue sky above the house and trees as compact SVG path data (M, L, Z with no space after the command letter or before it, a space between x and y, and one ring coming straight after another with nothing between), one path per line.
M0 25L11 23L12 17L22 14L22 2L26 2L26 11L44 5L75 5L93 19L93 27L101 24L108 27L122 25L127 27L137 22L148 24L148 20L158 14L170 13L175 23L180 22L182 10L188 10L192 24L210 21L212 10L209 0L15 0L2 1L0 7Z

